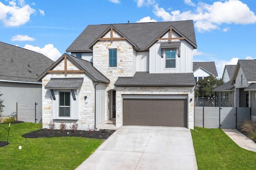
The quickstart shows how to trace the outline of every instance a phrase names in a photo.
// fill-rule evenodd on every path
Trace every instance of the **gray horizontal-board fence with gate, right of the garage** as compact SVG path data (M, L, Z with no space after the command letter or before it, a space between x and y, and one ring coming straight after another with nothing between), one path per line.
M250 107L195 107L197 127L240 129L242 121L250 117Z

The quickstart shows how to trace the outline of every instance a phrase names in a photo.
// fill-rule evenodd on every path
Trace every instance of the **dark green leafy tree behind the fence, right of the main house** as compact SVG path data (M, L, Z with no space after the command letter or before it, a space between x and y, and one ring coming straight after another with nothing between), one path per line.
M224 81L222 79L215 78L212 75L204 79L198 80L198 90L196 90L196 96L214 98L214 92L212 92L212 90L222 84L224 84Z

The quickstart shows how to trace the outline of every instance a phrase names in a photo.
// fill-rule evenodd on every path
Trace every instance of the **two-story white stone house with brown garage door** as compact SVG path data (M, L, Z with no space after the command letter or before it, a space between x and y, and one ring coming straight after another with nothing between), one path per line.
M42 80L43 127L194 128L192 20L88 25ZM76 56L76 57L74 57ZM80 59L79 59L80 58Z

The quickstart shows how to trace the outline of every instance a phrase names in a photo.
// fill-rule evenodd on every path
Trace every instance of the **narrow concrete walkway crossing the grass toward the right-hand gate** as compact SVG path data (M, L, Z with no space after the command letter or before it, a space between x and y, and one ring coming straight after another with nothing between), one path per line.
M256 152L256 143L236 129L222 129L238 146Z

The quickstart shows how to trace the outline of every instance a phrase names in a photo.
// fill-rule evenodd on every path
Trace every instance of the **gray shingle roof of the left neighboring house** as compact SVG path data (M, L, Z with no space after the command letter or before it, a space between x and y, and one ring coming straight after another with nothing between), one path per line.
M54 61L40 53L0 42L0 63L0 80L37 82L36 78Z

